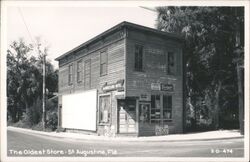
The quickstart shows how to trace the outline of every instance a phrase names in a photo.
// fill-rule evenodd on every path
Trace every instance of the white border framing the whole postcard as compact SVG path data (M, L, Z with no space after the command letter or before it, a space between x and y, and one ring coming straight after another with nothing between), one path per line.
M249 161L249 1L2 1L1 3L1 160L2 161ZM134 6L244 6L245 7L245 139L244 158L155 158L155 157L119 157L119 158L82 158L82 157L7 157L6 131L6 51L7 51L7 7L134 7Z

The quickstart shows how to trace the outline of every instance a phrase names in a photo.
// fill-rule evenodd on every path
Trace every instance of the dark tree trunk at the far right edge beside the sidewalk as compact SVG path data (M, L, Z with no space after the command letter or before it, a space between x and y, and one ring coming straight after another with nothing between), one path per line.
M244 134L244 94L243 94L243 70L237 64L238 97L239 97L239 125L240 134Z

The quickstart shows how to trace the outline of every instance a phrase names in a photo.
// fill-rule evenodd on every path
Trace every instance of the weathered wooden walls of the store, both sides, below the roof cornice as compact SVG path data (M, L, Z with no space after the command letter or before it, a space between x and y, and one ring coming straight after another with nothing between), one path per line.
M134 46L143 46L143 71L134 70ZM107 75L100 76L100 52L106 50L108 54ZM168 75L166 71L166 53L174 52L175 74ZM82 60L82 81L77 82L77 62ZM90 60L90 86L84 84L84 63ZM73 65L73 83L68 84L69 65ZM102 87L113 84L118 80L125 80L126 97L139 98L142 94L172 95L172 120L168 121L169 133L181 133L183 122L183 71L181 43L166 36L123 28L102 37L85 48L78 49L59 61L59 107L61 96L90 89L97 89L98 95L105 94ZM157 91L151 89L152 83L164 83L174 86L173 92ZM117 132L117 91L106 94L111 96L111 123L105 125L98 123L99 134ZM99 97L99 96L98 96ZM137 116L138 116L138 100ZM99 104L98 104L99 105ZM62 106L63 109L63 106ZM99 111L99 110L98 110ZM98 119L99 112L97 112ZM155 125L138 126L139 135L153 135ZM138 132L138 130L136 130Z

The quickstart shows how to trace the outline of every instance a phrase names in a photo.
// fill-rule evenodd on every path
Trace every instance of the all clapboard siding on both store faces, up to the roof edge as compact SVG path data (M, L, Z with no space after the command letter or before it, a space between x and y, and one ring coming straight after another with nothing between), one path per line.
M61 97L64 94L97 89L98 98L102 95L111 97L111 121L109 123L101 123L99 120L100 111L102 110L99 109L98 100L96 101L98 107L97 134L112 135L113 133L119 133L119 129L122 126L119 123L118 100L124 100L126 103L129 99L136 102L134 110L136 114L136 130L133 131L135 131L134 134L137 136L159 135L159 132L163 130L161 128L164 128L163 133L168 128L170 133L181 133L183 125L181 41L179 37L172 34L127 22L103 32L57 58L59 61L59 105L62 104ZM143 68L141 72L135 71L134 68L135 45L143 46ZM140 48L138 49L140 51ZM174 74L171 75L167 71L167 54L169 52L174 54L173 59L175 62ZM104 67L102 75L100 74L101 53L102 63L107 58L107 72L105 71L105 64L102 64ZM82 61L82 78L81 81L78 81L77 62L80 60ZM84 68L88 60L90 61L90 85L86 86L88 82L85 82L86 77L84 73L86 73L86 70ZM70 65L73 66L72 84L68 83ZM119 87L120 83L122 83L121 80L124 80L124 90ZM157 83L158 85L171 84L174 90L152 89L152 83ZM103 87L105 87L105 90L103 90ZM153 118L150 118L149 121L144 121L146 119L143 116L145 115L143 114L144 110L151 109L151 95L161 95L161 118L166 115L166 113L163 114L162 95L172 96L172 119L161 120L161 125L152 122L154 121ZM145 109L145 105L149 106L148 109ZM150 116L153 115L153 113L150 114ZM145 116L147 117L147 115ZM162 127L163 125L164 127ZM129 124L127 126L129 128ZM127 133L130 134L129 131Z

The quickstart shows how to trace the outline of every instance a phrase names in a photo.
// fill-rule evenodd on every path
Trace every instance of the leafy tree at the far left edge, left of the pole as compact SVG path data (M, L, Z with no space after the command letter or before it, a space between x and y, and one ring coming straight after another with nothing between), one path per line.
M24 101L24 98L25 100L27 99L27 87L25 87L27 86L27 80L24 76L27 76L29 66L27 57L31 50L32 46L26 45L26 43L20 39L19 41L14 41L7 51L8 111L11 114L13 122L20 120L23 107L25 107L25 103L22 101ZM25 89L25 91L22 91L23 89Z

